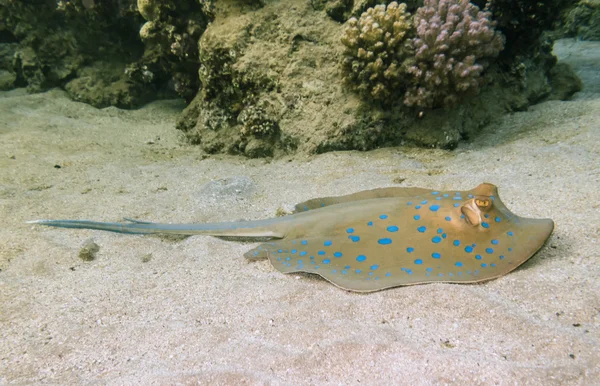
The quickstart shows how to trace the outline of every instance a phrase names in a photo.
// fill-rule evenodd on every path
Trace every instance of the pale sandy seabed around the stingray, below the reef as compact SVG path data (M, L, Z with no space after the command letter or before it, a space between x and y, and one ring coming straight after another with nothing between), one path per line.
M583 92L454 151L206 157L178 139L178 101L98 110L58 90L1 93L0 383L598 384L600 44L556 51ZM256 243L25 224L258 219L313 197L484 181L556 228L483 284L356 294L246 261ZM89 238L100 251L87 262Z

